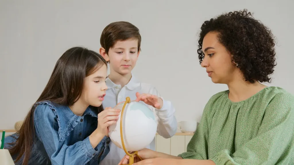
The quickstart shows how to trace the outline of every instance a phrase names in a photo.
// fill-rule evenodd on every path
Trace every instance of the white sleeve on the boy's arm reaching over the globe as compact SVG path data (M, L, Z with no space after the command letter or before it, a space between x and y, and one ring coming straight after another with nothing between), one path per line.
M156 95L163 100L163 106L161 107L161 109L156 109L152 106L151 108L155 109L155 113L158 117L157 133L164 138L170 138L176 134L178 128L178 122L175 117L176 110L170 101L164 100L160 96L155 87L151 88L149 93L152 95Z

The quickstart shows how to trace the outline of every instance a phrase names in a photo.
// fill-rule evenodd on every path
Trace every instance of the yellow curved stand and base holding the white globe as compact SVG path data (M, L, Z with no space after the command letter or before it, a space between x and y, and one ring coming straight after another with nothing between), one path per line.
M120 129L121 129L121 144L122 144L122 146L123 146L123 150L125 151L125 153L126 153L128 156L130 156L130 158L129 158L129 164L128 164L128 165L132 165L132 164L134 164L134 155L136 155L139 159L142 160L142 158L138 155L138 151L134 151L134 152L132 152L132 153L129 153L129 152L126 150L125 143L123 142L123 112L124 112L124 110L125 110L125 107L126 107L127 103L130 103L130 102L131 102L130 97L126 97L126 101L125 101L125 103L123 104L123 108L122 108L122 110L121 110L121 127L120 127Z

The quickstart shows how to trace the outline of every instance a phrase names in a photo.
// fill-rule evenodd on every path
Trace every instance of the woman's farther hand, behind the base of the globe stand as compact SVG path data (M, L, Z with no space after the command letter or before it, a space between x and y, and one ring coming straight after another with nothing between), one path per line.
M144 160L144 159L152 159L156 157L156 151L153 151L151 149L141 149L138 151L138 155ZM123 159L118 164L128 164L128 160L130 159L130 156L125 155ZM134 155L134 163L141 161L136 155Z

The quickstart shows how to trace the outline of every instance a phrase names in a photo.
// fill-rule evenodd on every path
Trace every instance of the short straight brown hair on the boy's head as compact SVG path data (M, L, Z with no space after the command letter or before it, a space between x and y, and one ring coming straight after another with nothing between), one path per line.
M112 22L103 29L100 44L108 54L109 49L113 48L116 41L125 41L131 38L138 39L138 51L141 50L141 35L136 26L126 21Z

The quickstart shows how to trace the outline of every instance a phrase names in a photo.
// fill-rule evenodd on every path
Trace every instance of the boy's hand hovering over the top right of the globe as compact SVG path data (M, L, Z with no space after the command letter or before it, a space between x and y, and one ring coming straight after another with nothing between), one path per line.
M143 101L146 104L155 107L156 109L161 109L163 106L163 100L156 95L151 95L149 93L140 94L139 92L136 92L136 96L136 101Z

